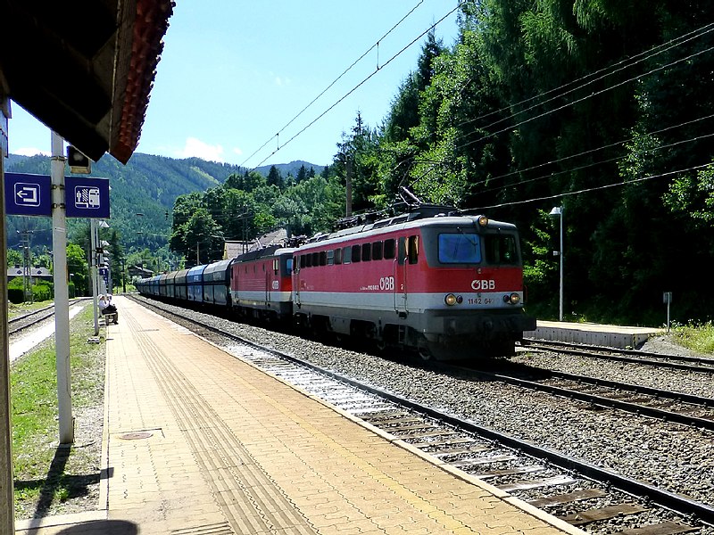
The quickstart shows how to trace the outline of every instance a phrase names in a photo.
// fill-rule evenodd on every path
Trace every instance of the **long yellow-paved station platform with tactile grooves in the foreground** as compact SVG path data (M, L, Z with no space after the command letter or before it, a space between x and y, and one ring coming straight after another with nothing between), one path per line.
M101 503L18 535L584 533L115 300Z

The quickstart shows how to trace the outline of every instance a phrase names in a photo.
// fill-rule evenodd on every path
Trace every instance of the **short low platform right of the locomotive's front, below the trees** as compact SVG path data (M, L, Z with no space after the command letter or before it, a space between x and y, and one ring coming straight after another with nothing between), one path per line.
M523 336L528 339L585 343L619 350L639 348L652 336L659 336L665 332L663 329L654 327L627 327L541 320L538 320L536 327L535 331L527 331L523 333Z

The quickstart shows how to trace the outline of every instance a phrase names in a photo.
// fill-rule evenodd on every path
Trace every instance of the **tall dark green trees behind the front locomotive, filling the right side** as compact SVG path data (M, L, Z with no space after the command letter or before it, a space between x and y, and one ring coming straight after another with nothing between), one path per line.
M345 140L355 206L398 185L513 221L531 309L569 318L711 318L714 4L479 0L430 36L379 128ZM546 312L547 313L547 312Z

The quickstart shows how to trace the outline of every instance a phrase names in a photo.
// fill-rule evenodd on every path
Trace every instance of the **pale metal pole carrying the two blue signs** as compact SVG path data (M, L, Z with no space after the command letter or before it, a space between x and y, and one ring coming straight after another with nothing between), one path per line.
M70 372L70 290L67 284L67 218L64 206L64 144L52 133L52 248L54 251L54 346L60 444L74 442Z

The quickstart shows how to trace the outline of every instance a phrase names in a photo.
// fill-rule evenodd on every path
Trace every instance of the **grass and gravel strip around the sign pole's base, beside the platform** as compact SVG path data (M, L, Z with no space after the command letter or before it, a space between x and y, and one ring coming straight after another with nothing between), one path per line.
M15 516L32 518L97 506L104 423L104 342L86 306L71 320L71 398L75 442L59 446L54 336L12 364ZM104 341L104 337L103 337Z

